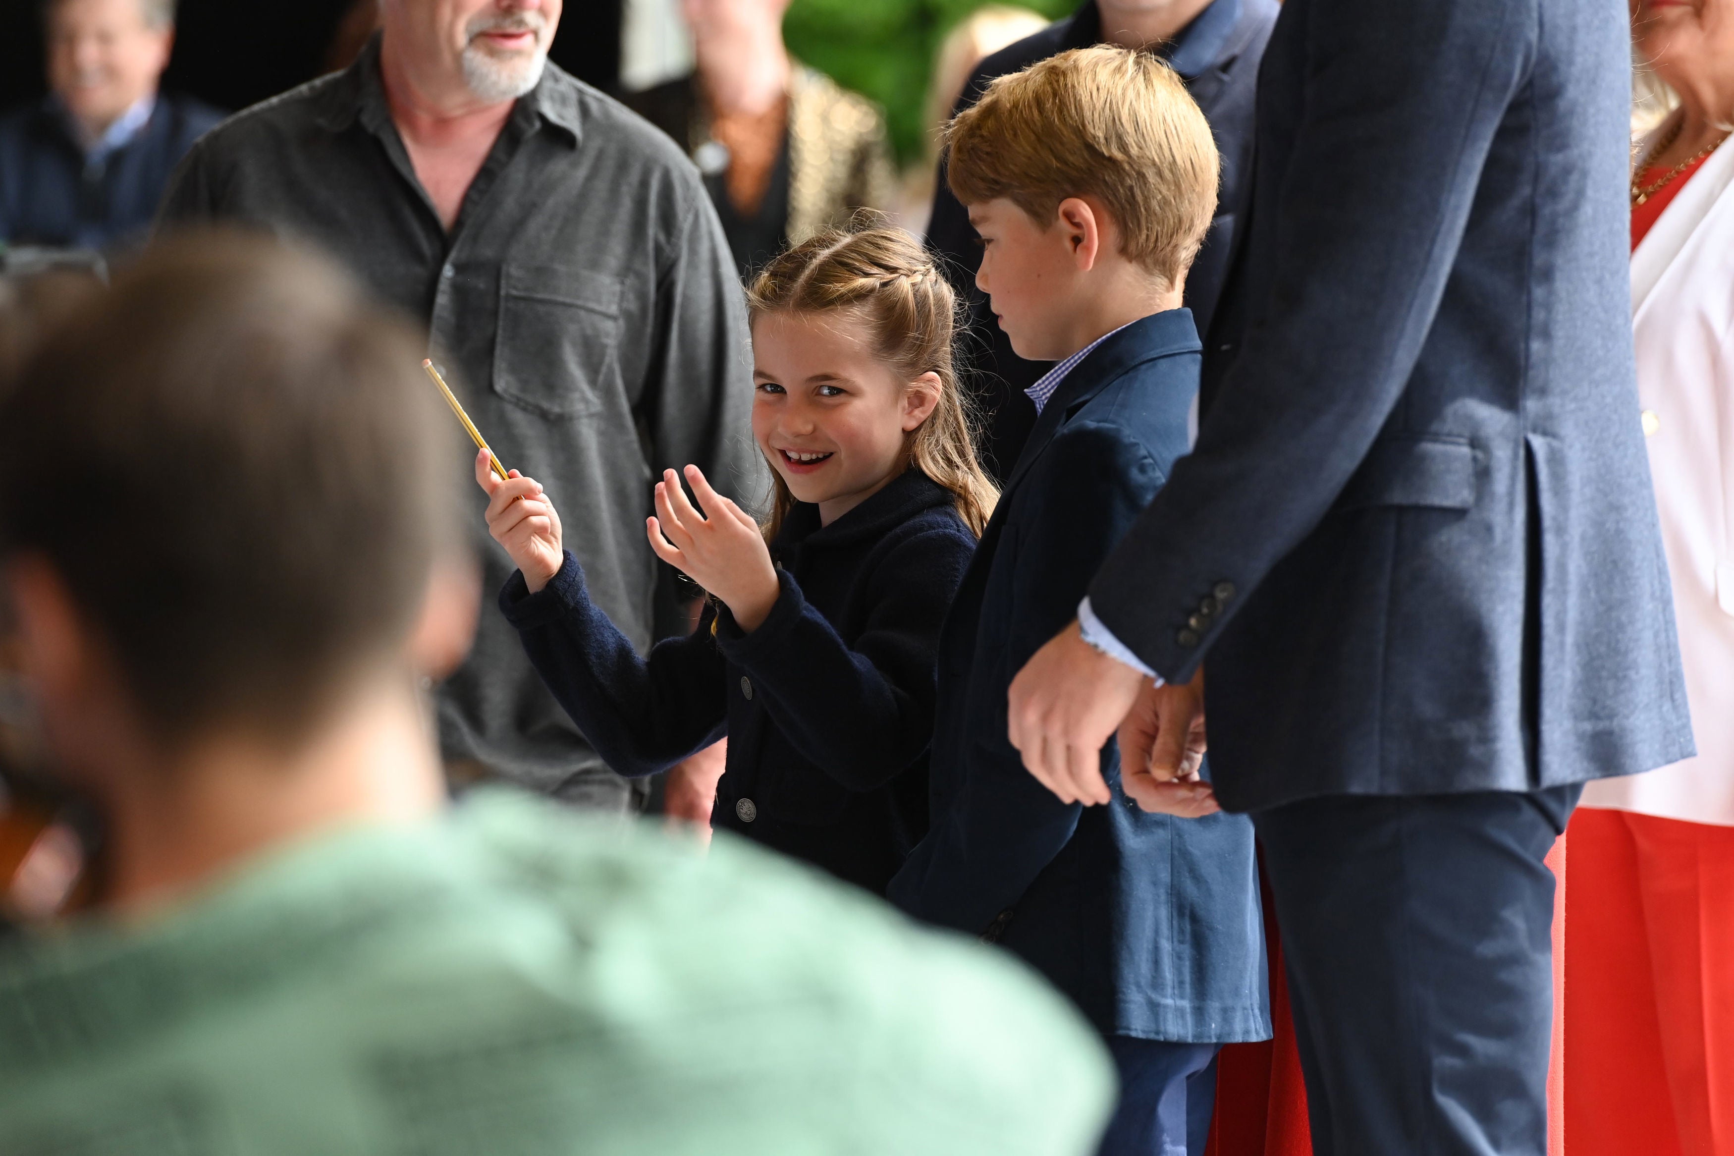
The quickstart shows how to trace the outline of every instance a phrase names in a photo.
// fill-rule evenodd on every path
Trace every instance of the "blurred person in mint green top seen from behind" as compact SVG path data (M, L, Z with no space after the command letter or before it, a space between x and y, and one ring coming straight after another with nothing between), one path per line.
M421 341L156 248L0 390L0 575L99 906L0 943L0 1153L1087 1153L1028 972L733 841L446 806L468 454Z

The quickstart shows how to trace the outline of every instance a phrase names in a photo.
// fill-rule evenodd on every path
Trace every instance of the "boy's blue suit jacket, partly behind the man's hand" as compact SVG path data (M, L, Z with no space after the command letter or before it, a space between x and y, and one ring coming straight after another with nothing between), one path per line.
M931 830L891 880L910 913L1023 955L1106 1033L1269 1035L1252 823L1059 802L1006 738L1006 692L1186 452L1198 336L1144 317L1049 399L940 633Z

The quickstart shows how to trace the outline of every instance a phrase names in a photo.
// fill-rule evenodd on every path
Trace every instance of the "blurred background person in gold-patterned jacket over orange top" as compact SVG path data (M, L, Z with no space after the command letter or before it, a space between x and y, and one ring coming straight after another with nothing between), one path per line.
M786 246L848 225L857 210L893 208L884 116L789 59L789 0L681 0L680 9L692 75L623 99L697 163L742 277Z

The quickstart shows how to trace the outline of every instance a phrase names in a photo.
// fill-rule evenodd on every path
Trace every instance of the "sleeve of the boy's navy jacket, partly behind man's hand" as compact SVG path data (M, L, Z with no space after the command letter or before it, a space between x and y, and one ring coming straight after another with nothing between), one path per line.
M1075 426L1049 445L1042 477L1023 482L1028 506L1007 523L1016 529L1014 553L1002 544L994 560L995 570L1011 568L1011 605L981 622L983 638L1004 631L1007 672L1072 620L1091 574L1160 485L1150 452L1113 430ZM962 787L888 891L912 915L959 931L981 932L1014 906L1072 839L1082 811L1023 768L1006 737L1006 690L994 686L990 702L971 704L981 714L971 718ZM1111 742L1101 768L1118 785Z

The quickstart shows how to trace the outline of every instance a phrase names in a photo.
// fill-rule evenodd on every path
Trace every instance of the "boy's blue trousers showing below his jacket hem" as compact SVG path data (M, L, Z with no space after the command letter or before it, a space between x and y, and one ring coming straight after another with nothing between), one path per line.
M1221 1043L1108 1036L1120 1101L1098 1156L1203 1156Z

